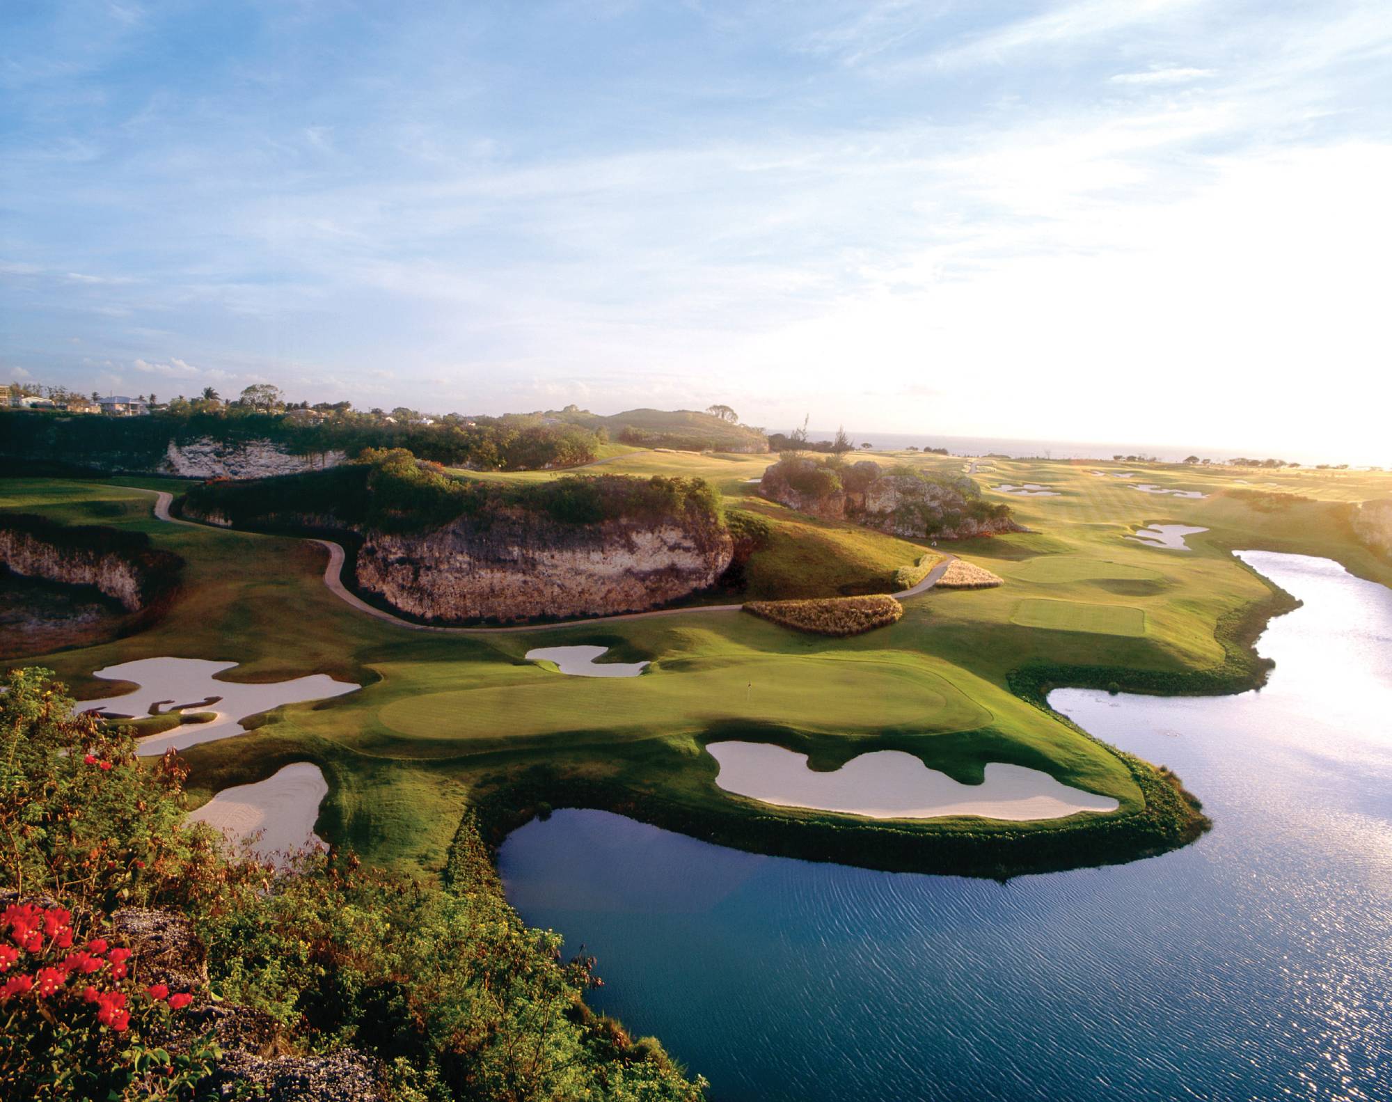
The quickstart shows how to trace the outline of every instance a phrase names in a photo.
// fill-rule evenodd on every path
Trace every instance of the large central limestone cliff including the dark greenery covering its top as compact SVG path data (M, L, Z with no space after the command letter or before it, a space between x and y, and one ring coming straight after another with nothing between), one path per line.
M216 525L351 533L363 596L438 622L638 612L707 589L734 557L720 495L700 479L496 483L409 452L205 483L181 508Z

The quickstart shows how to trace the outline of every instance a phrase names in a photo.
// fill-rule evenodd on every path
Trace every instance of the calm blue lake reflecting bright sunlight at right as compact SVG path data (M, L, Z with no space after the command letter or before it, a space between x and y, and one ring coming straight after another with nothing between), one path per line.
M509 897L717 1099L1389 1099L1392 590L1244 558L1306 601L1261 693L1052 697L1203 796L1189 849L998 885L558 811Z

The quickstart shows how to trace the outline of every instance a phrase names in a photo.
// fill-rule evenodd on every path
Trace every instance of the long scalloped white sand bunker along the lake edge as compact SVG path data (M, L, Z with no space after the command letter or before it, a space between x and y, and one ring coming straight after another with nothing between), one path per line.
M1069 788L1047 772L992 761L986 783L959 785L913 754L876 750L834 772L813 772L807 756L781 746L718 742L706 747L720 762L715 785L780 807L845 811L869 818L983 815L997 820L1062 818L1075 811L1115 811L1116 800Z

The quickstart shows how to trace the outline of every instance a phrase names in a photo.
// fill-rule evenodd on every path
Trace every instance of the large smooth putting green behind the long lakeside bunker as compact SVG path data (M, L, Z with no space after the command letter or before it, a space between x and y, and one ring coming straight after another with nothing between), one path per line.
M503 669L512 676L501 683L400 697L377 715L398 735L430 740L576 730L635 737L741 719L827 733L944 733L991 722L987 708L915 655L690 658L628 679Z

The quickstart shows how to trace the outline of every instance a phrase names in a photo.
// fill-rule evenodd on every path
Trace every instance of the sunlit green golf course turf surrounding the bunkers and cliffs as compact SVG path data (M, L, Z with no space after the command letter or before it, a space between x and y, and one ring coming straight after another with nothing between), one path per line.
M910 461L947 466L937 456ZM767 462L635 452L606 468L707 477L724 469L724 481L736 490ZM960 469L960 461L949 462ZM1143 472L1141 481L1225 486L1212 470L1134 469ZM1009 693L1012 669L1105 662L1164 673L1217 666L1224 651L1214 639L1215 622L1270 596L1261 579L1233 562L1231 547L1331 555L1364 576L1392 582L1392 566L1350 541L1346 523L1339 523L1340 506L1332 504L1364 491L1386 497L1388 476L1357 483L1329 477L1329 487L1307 479L1302 493L1324 501L1278 512L1229 495L1146 495L1066 463L994 461L994 470L980 477L983 484L987 477L988 484L1030 480L1063 491L1058 498L1011 498L1038 534L952 547L1006 584L931 593L909 601L898 625L848 640L699 612L487 639L416 633L362 616L329 594L319 580L319 548L163 525L150 518L148 495L114 481L7 480L0 483L0 508L138 527L189 564L185 597L153 630L45 660L79 690L95 692L86 676L92 669L159 654L238 660L245 664L235 671L238 679L327 671L363 682L361 693L285 708L248 736L196 747L189 753L193 783L212 792L267 776L290 760L317 761L331 788L320 832L369 859L419 867L438 865L470 799L505 799L536 776L590 785L621 810L702 831L709 822L734 833L764 831L775 821L837 821L817 813L771 813L715 789L714 762L700 746L732 732L810 753L821 768L878 747L917 753L963 781L980 776L987 761L1013 761L1114 794L1125 814L1140 799L1125 762ZM1123 538L1155 522L1211 532L1190 537L1190 552ZM796 515L786 523L807 525ZM812 530L820 529L807 525L789 547L805 547ZM905 548L922 554L913 544ZM1012 619L1022 600L1139 608L1144 634L1020 626ZM522 660L535 646L590 641L614 647L617 658L653 658L653 672L636 680L569 679ZM867 840L873 833L870 825L857 829ZM922 838L992 828L962 820L908 829Z

